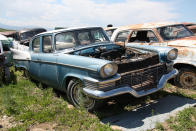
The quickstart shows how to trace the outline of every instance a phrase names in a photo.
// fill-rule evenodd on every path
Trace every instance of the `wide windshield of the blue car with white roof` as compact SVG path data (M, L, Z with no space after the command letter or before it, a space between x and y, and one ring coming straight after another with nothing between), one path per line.
M62 32L55 36L56 50L109 41L102 28Z

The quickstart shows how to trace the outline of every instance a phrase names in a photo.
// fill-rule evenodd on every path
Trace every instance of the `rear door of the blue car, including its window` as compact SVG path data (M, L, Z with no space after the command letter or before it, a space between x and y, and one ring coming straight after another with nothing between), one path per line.
M40 54L40 37L36 37L32 40L32 48L31 48L31 61L29 62L29 73L31 76L39 80L40 79L40 59L39 59L39 54Z

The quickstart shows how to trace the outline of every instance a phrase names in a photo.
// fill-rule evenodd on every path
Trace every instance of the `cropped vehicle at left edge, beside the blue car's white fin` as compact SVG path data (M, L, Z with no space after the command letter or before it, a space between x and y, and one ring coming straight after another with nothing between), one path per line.
M0 85L10 80L9 67L12 65L12 53L9 48L10 41L0 35Z

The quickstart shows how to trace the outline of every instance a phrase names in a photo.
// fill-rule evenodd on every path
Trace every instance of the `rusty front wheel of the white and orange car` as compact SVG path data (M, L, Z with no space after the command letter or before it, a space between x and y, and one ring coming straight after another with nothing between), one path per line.
M196 70L191 68L181 68L175 78L178 87L196 90Z

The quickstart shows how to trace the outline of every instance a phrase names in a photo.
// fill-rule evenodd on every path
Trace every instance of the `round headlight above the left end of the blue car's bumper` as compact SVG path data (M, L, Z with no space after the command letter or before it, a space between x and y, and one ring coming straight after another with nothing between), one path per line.
M100 74L103 78L112 76L117 73L118 66L115 63L106 64L102 67Z

